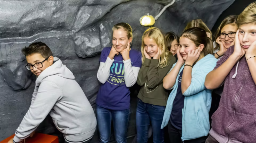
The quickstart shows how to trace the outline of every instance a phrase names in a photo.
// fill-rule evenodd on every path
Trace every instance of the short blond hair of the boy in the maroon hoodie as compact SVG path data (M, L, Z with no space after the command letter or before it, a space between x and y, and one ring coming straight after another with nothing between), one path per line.
M249 23L255 24L255 2L248 5L237 18L238 26Z

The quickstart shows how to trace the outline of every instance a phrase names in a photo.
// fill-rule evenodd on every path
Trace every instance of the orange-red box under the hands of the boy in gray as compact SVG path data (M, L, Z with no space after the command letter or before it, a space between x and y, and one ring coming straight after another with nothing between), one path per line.
M7 143L14 136L15 134L4 139L0 143ZM26 138L26 143L59 143L59 139L56 136L35 133L32 138Z

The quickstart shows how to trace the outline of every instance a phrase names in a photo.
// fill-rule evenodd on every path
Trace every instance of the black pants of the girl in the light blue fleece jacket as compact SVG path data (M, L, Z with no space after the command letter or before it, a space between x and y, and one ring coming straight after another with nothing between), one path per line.
M170 143L182 143L181 130L172 126L170 122L168 123L168 132L169 132ZM205 143L206 138L207 136L201 137L201 138L195 138L191 140L185 140L184 143Z

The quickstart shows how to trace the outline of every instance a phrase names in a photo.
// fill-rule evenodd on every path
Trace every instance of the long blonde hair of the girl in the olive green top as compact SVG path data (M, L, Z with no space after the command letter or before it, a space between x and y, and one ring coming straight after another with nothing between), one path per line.
M167 47L166 47L166 39L164 34L160 31L160 29L156 28L156 27L151 27L148 28L142 35L142 42L141 42L141 53L142 53L142 62L144 62L145 60L145 55L144 55L144 41L143 39L145 37L148 37L150 39L153 39L156 43L158 50L162 51L162 54L160 55L159 61L158 61L158 67L163 68L166 67L169 63L168 63L168 56L170 54L170 52L168 51Z

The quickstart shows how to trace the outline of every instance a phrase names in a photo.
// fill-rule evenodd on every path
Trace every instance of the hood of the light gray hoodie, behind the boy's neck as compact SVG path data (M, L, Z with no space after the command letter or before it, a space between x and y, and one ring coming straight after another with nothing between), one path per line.
M75 79L73 73L64 65L62 64L59 58L53 58L53 64L46 68L44 71L36 79L36 86L40 85L41 81L51 75L58 75L66 79Z

